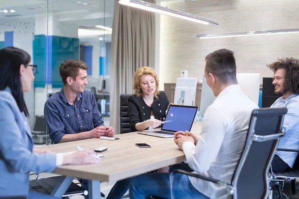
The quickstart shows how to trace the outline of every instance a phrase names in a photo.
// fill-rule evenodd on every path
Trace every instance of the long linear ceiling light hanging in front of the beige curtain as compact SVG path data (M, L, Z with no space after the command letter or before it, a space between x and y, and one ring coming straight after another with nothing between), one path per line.
M182 12L182 11L175 10L175 9L170 9L168 7L163 7L163 6L149 3L149 2L146 2L143 0L119 0L119 3L123 4L123 5L131 6L131 7L136 7L139 9L144 9L144 10L147 10L150 12L156 12L156 13L160 13L160 14L164 14L164 15L168 15L168 16L186 19L189 21L197 22L197 23L202 23L205 25L209 25L210 23L214 23L214 24L218 25L218 22L214 21L212 19L204 18L204 17L197 16L194 14L189 14L187 12Z

